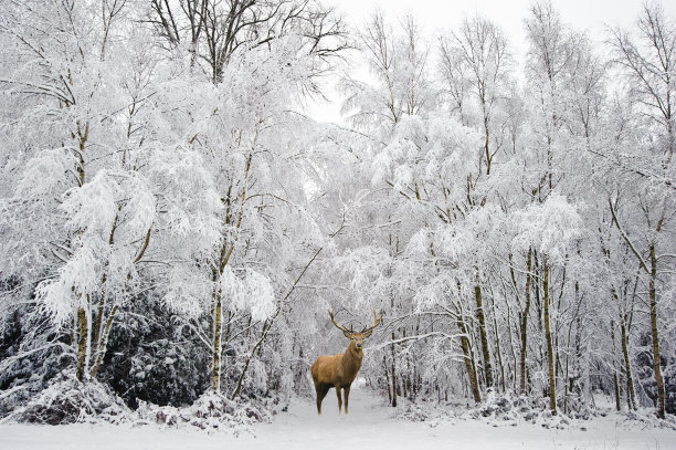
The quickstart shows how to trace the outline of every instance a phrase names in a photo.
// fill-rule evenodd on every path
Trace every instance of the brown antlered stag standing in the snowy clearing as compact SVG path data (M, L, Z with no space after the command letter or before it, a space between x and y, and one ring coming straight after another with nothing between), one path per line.
M328 313L334 325L342 332L345 337L350 339L350 343L345 353L319 356L313 364L313 381L315 381L315 390L317 391L317 415L321 415L321 401L330 388L336 388L339 415L342 409L340 390L342 389L345 393L345 414L347 415L350 387L355 378L357 378L357 373L361 368L361 359L363 358L363 339L371 336L373 328L382 321L382 314L378 317L376 311L373 311L373 324L360 332L355 332L351 327L348 329L339 325L332 311Z

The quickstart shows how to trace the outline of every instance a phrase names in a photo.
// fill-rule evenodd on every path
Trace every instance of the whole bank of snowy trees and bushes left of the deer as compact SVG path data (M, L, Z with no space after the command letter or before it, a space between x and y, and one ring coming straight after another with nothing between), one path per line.
M317 198L349 164L297 105L347 46L341 19L36 0L4 4L0 32L4 412L64 377L131 406L289 394L297 285L334 230Z

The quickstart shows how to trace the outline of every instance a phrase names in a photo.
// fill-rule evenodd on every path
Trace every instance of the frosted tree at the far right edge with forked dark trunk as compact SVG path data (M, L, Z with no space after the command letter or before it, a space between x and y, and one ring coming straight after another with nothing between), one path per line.
M642 116L642 128L649 134L638 138L635 146L623 147L615 154L617 171L627 181L631 179L632 186L629 190L611 192L609 205L613 223L647 279L657 416L664 418L666 394L658 306L661 292L672 279L664 270L673 262L676 90L672 74L676 67L676 25L661 6L646 3L636 31L613 30L611 44L635 113ZM627 158L632 160L629 165Z

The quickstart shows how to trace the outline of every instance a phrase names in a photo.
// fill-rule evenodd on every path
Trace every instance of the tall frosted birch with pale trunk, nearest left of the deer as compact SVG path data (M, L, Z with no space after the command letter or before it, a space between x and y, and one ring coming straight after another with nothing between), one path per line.
M182 282L168 292L175 307L192 314L196 335L209 343L214 391L221 390L228 345L237 355L228 370L232 395L239 395L294 289L299 254L311 261L305 251L321 243L307 206L309 186L321 184L308 158L319 135L288 108L316 90L315 77L326 70L326 49L308 53L308 39L303 28L291 28L265 45L242 46L218 79L201 82L200 98L173 118L203 155L222 208L204 260L191 263L191 276L177 266ZM183 292L190 291L193 301L186 303ZM200 313L209 317L207 329ZM230 342L237 328L246 337L253 328L258 337L253 345Z

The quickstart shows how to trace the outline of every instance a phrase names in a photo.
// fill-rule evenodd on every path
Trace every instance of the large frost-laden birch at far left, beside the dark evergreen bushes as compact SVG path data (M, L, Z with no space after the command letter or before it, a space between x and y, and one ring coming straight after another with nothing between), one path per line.
M123 60L122 17L130 11L124 2L106 2L103 15L91 15L98 9L89 7L29 2L17 6L3 27L24 60L3 83L18 100L12 107L36 121L43 136L24 140L30 151L4 203L6 233L14 238L3 245L3 272L35 283L38 311L56 329L71 327L81 381L96 376L118 312L144 289L144 257L162 222L156 190L161 169L147 164L192 157L163 151L166 143L147 127L157 114L150 102L157 85L149 82L155 69L144 61L142 46L136 60ZM128 73L110 70L123 63ZM27 66L31 72L23 72ZM191 172L194 167L188 165L186 175L204 175ZM190 188L209 198L209 178ZM34 221L35 214L47 220Z

